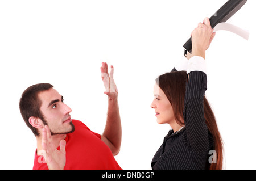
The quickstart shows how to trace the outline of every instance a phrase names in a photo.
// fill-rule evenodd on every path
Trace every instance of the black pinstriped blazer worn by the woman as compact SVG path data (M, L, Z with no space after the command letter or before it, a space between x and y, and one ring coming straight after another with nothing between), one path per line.
M152 159L152 169L209 169L213 137L204 120L205 90L207 75L201 71L191 71L184 100L185 127L175 133L170 130L164 137L163 144Z

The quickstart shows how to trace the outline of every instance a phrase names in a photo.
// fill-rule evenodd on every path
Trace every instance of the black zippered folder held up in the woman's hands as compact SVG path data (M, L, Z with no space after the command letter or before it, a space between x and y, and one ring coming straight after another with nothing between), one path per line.
M210 17L210 25L214 28L218 23L226 22L238 10L245 5L247 0L229 0L225 3L212 17ZM185 52L191 53L192 42L191 38L183 45ZM185 56L187 54L185 53Z

